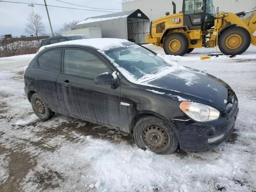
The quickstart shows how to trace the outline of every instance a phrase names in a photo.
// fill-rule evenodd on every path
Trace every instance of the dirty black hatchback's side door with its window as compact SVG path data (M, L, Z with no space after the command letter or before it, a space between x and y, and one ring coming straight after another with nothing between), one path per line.
M62 60L57 84L62 88L68 114L120 126L120 86L94 83L96 76L113 73L104 60L90 50L79 48L64 48Z

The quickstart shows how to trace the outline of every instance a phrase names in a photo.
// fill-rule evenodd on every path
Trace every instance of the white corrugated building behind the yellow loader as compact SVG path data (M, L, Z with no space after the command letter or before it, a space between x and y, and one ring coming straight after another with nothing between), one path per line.
M172 1L176 4L176 13L182 11L183 0L123 0L122 10L140 9L150 21L165 16L166 12L173 13ZM256 8L256 0L213 0L215 10L238 13ZM245 17L251 16L248 13ZM244 18L245 18L244 17Z

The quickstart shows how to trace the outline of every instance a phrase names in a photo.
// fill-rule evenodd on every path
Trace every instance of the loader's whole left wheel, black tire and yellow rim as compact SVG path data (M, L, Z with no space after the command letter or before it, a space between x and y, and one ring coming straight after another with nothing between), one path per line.
M173 33L164 40L164 52L167 55L183 56L188 52L188 38L182 33Z

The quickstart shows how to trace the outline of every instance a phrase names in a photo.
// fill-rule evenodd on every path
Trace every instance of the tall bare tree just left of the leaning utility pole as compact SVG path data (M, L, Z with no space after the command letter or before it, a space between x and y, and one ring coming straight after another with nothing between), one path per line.
M45 26L42 22L42 16L37 13L31 12L28 15L28 23L26 24L25 31L38 37L44 32Z

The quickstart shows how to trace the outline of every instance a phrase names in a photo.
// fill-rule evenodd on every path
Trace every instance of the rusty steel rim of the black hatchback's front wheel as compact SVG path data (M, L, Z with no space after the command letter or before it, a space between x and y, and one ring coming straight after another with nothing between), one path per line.
M154 152L166 150L170 145L169 133L158 125L151 124L145 126L140 136L144 146Z

